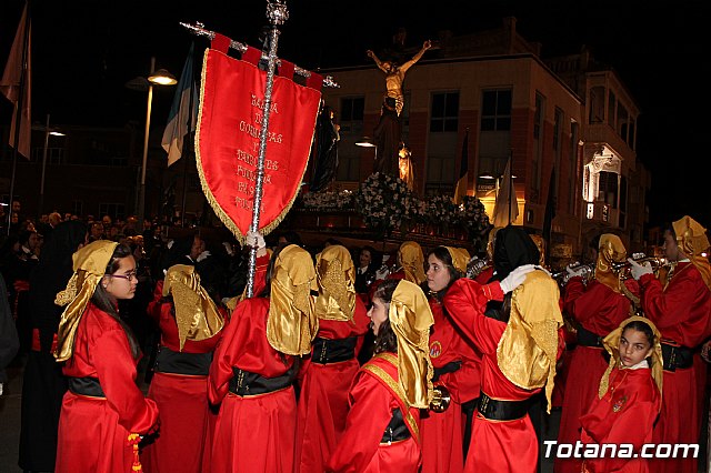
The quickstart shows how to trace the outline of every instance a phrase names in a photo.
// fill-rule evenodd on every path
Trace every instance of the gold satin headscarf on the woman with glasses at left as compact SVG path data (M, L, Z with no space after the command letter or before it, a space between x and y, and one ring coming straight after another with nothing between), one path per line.
M53 354L58 362L69 360L74 352L79 321L118 245L119 243L114 241L97 240L72 254L74 274L67 283L67 288L58 292L54 299L57 305L69 304L62 312L57 329L57 350Z

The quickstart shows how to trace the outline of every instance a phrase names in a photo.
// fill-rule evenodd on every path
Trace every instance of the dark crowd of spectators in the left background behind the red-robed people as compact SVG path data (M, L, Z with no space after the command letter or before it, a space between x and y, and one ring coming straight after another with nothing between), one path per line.
M3 208L0 208L3 209ZM8 207L4 207L8 209ZM42 245L52 230L64 221L80 221L87 225L87 243L96 240L111 240L126 243L133 250L137 261L139 285L136 298L121 301L121 316L126 319L136 332L143 349L150 354L156 340L154 328L146 316L146 306L153 296L156 284L163 279L163 271L172 264L192 264L199 269L202 284L220 300L239 295L247 285L249 248L242 248L229 232L207 232L199 228L178 228L160 225L156 221L147 220L140 225L133 215L117 219L111 215L87 215L81 218L71 213L53 211L39 219L23 217L21 205L13 202L10 210L16 218L8 231L7 213L0 223L0 274L4 278L9 294L9 303L20 335L21 348L17 359L27 354L31 348L30 316L28 314L28 295L30 273L41 258ZM170 235L170 236L169 236ZM276 231L268 235L270 246L288 241L307 249L314 258L322 248L304 245L298 232ZM336 240L327 241L324 245L340 243ZM370 283L378 266L383 261L382 255L374 249L352 248L354 261L369 253L372 261L367 263L368 275L360 274L364 280L360 285ZM362 261L361 261L362 263ZM359 288L361 292L364 288ZM19 361L18 361L19 362ZM150 362L148 359L146 362Z

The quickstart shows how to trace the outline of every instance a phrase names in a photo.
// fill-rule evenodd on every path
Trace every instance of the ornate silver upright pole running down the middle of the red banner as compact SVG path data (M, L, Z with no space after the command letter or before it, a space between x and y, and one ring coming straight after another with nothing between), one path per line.
M267 18L271 23L269 32L269 57L267 61L267 84L264 90L263 120L259 135L259 159L257 161L257 181L254 182L254 207L252 208L252 222L249 230L259 230L259 213L262 205L262 187L264 183L264 154L267 153L267 132L269 129L269 115L271 111L271 89L274 82L274 68L277 64L277 43L279 41L280 24L289 19L286 0L274 0L267 2ZM254 269L257 266L257 248L249 252L249 266L247 272L247 296L251 298L254 290Z

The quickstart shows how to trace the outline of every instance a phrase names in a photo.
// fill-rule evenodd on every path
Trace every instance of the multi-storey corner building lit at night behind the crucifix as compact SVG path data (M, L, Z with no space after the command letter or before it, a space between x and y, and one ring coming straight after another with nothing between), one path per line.
M444 33L434 43L403 84L403 141L415 191L453 194L464 157L467 193L491 215L510 158L519 209L512 223L550 231L551 263L579 258L602 232L620 234L630 252L644 249L650 178L634 152L639 110L614 71L587 51L543 61L513 18L497 30ZM356 189L373 170L375 150L354 144L378 123L384 74L374 64L322 72L340 85L323 91L340 124L334 187Z

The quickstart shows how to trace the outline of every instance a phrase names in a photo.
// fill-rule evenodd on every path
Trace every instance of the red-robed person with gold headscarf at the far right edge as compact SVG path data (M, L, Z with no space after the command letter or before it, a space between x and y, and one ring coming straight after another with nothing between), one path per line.
M711 334L711 266L702 253L709 249L705 229L690 217L664 231L664 256L671 263L658 279L651 264L630 260L639 281L644 314L662 334L664 391L662 412L654 426L654 443L698 444L701 433L701 376L704 366L694 351ZM698 355L697 355L698 356ZM655 459L653 472L695 473L698 459Z

